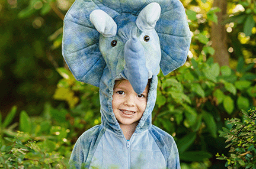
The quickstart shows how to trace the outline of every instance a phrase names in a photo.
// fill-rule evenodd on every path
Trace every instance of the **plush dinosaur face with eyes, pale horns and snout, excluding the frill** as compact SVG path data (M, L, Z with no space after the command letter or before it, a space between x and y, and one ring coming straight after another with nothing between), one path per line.
M122 14L113 19L101 9L90 15L101 34L99 48L111 76L123 73L138 94L144 91L148 79L159 72L161 48L154 28L160 13L159 4L152 2L138 17Z

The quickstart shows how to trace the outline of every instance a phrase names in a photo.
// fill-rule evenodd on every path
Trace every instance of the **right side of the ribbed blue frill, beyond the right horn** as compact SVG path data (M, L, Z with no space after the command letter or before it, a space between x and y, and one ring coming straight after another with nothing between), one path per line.
M183 4L178 0L156 1L161 16L156 23L161 45L160 67L164 75L183 66L191 43L191 33Z

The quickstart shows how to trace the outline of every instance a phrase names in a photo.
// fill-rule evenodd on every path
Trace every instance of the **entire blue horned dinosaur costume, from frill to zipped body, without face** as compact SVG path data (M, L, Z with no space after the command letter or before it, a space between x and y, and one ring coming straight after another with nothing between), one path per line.
M95 11L95 12L94 12ZM101 125L73 148L71 168L180 168L177 146L152 125L157 74L185 63L191 35L178 0L76 0L64 20L62 53L75 78L100 88ZM112 109L116 80L140 94L151 80L146 109L129 141Z

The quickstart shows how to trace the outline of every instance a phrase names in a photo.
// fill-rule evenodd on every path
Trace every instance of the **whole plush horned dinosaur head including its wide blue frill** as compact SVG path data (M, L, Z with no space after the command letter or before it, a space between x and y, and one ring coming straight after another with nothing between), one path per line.
M166 75L184 64L190 41L178 0L75 1L65 16L62 53L77 80L100 86L110 71L142 93L159 68Z

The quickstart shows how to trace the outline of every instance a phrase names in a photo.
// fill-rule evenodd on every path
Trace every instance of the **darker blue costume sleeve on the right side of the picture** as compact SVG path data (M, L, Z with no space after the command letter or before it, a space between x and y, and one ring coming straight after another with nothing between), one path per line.
M149 132L155 139L156 144L158 145L160 150L162 151L162 154L167 161L167 168L180 168L180 158L174 138L172 138L172 136L169 135L167 132L154 125L149 128Z

